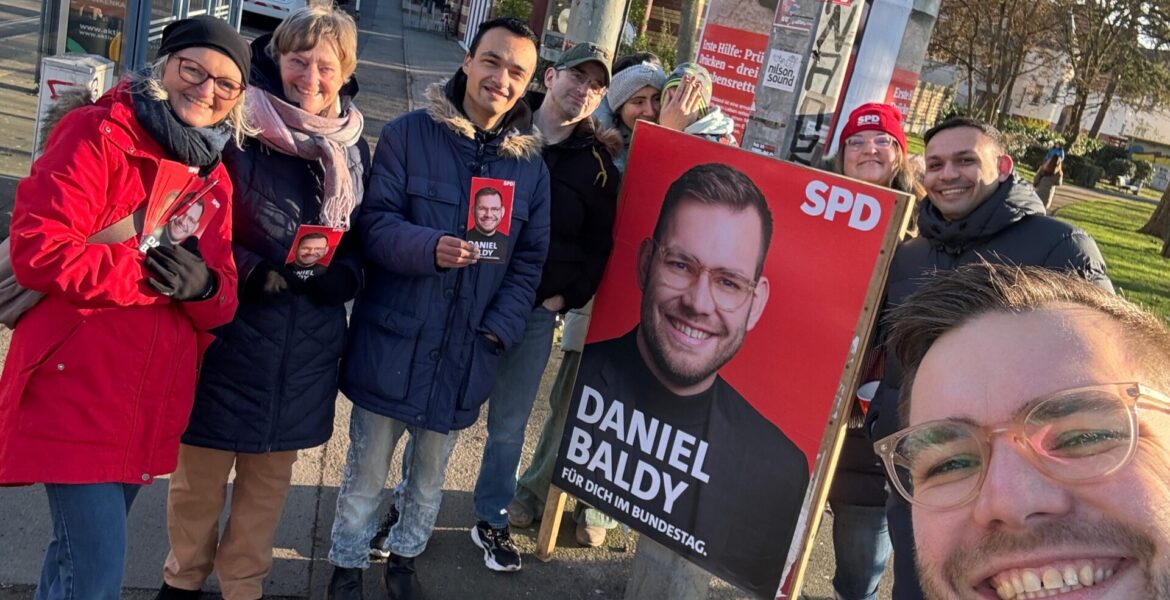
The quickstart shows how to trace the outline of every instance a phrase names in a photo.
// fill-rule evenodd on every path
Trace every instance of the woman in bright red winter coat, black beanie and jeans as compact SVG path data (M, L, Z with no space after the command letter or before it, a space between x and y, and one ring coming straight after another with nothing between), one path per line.
M171 23L158 61L66 112L16 188L13 271L44 298L18 323L0 377L0 485L48 494L37 599L118 598L130 504L174 469L201 338L236 306L220 152L246 129L249 61L221 20ZM143 253L140 219L130 230L123 219L173 163L211 186L206 228ZM119 222L122 241L90 240Z

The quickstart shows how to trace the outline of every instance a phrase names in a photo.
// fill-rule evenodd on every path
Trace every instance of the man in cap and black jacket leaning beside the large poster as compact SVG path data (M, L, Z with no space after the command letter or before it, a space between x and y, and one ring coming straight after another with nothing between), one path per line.
M475 484L477 527L508 527L507 508L516 491L524 428L549 361L557 313L589 302L613 247L619 175L590 118L608 83L607 53L579 43L545 71L548 95L539 98L529 94L526 98L539 106L532 119L544 136L552 232L536 306L522 342L501 358L489 396L488 441ZM519 570L515 546L482 549L488 568Z

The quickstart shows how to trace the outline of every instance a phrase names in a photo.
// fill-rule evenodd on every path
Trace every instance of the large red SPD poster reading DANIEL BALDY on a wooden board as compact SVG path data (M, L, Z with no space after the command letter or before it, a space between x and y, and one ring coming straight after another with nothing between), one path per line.
M640 123L553 483L773 598L899 198Z

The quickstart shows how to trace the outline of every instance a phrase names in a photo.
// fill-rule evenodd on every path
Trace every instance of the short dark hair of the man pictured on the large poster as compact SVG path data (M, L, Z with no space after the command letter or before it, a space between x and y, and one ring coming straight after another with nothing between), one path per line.
M768 200L764 199L759 187L742 171L727 165L708 163L690 167L666 191L666 199L662 200L662 208L654 225L654 241L662 241L670 218L683 200L694 200L708 206L725 206L735 212L751 208L759 214L763 237L756 264L756 277L759 278L764 273L764 257L768 256L768 247L772 241L772 211L768 207Z

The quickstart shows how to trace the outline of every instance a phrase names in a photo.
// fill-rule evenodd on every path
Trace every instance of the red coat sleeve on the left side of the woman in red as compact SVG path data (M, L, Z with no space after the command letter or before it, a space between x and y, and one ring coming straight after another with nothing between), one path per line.
M87 243L92 232L125 216L112 205L110 163L125 156L98 131L105 111L75 109L56 125L46 152L16 186L12 268L21 285L87 308L164 302L144 284L142 254L130 244ZM133 211L130 207L126 213Z

